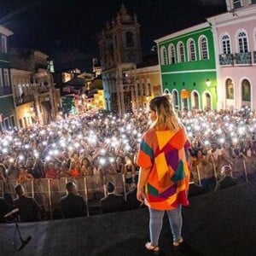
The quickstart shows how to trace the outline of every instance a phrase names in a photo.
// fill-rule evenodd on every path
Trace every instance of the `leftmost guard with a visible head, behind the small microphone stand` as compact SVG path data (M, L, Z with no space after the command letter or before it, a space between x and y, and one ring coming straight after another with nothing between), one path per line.
M14 206L19 209L20 222L40 220L42 209L38 202L34 198L25 195L24 187L21 184L15 186L15 192L18 197L14 201Z

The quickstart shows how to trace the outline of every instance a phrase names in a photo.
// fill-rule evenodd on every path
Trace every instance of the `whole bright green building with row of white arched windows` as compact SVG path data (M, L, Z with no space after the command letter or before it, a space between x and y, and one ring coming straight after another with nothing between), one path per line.
M162 90L176 108L218 108L212 27L205 22L154 41Z

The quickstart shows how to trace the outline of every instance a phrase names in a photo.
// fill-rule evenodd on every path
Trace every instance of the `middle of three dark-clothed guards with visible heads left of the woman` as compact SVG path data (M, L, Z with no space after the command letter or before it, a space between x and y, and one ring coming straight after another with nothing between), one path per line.
M63 218L86 216L86 203L83 196L77 195L76 184L66 184L67 195L61 197L61 212Z

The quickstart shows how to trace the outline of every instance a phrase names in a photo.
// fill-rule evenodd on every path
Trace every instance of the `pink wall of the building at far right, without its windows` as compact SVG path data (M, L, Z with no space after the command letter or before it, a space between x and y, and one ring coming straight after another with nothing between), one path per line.
M256 109L256 4L250 4L250 1L242 1L243 7L235 9L233 13L226 13L208 19L212 22L213 32L216 40L217 62L219 68L219 96L223 108L241 108L248 106ZM243 64L236 61L236 54L239 53L238 48L238 32L247 34L247 56ZM222 38L224 34L230 37L230 58L228 65L221 63L220 58L224 55L222 46ZM251 60L250 60L251 59ZM226 82L230 79L233 84L234 99L227 97ZM247 79L250 83L251 97L250 101L242 101L241 83Z

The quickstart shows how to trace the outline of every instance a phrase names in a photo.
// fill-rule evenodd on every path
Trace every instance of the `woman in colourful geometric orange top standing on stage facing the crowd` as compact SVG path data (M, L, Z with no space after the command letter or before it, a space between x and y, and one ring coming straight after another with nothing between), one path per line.
M137 199L149 209L150 241L145 247L158 253L165 212L172 229L173 247L177 249L183 243L182 206L189 205L190 144L166 96L154 97L148 112L152 124L143 135L137 155L140 166Z

